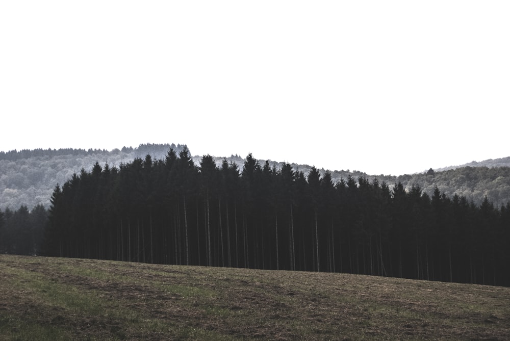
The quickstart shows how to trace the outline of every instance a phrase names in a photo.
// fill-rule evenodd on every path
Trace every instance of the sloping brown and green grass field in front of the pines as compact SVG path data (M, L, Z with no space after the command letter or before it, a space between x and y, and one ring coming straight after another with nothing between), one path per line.
M510 288L0 255L0 339L508 340Z

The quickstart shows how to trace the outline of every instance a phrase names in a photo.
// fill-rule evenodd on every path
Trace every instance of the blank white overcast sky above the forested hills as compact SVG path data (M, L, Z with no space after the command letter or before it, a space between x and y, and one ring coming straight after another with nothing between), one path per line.
M3 1L0 150L400 175L510 156L508 1Z

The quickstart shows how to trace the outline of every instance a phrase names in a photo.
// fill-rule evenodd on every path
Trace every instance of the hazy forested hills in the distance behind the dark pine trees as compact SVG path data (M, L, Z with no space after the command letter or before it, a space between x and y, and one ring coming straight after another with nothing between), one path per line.
M49 207L49 200L57 183L61 185L73 173L81 169L89 171L95 162L101 166L108 163L110 167L119 167L122 163L129 163L135 158L144 158L150 154L153 159L164 159L170 148L179 153L186 145L181 144L141 144L136 148L123 147L112 151L100 149L35 149L0 152L0 209L9 207L17 209L26 205L29 209L42 204ZM192 151L191 151L192 153ZM193 161L199 165L202 155L193 156ZM253 155L257 158L257 155ZM216 164L221 165L223 156L214 157ZM240 169L244 158L231 155L228 162L236 163ZM261 164L265 161L260 160ZM284 163L269 161L271 167L279 169ZM307 174L309 165L291 164L294 170ZM510 156L507 158L471 162L463 166L449 166L437 169L434 175L415 173L400 176L369 175L361 171L335 170L330 171L331 178L338 182L346 180L348 176L355 179L360 176L370 181L375 178L379 182L386 182L390 188L395 183L402 182L406 189L418 185L431 195L437 186L447 196L465 196L468 200L480 203L487 196L496 206L510 201ZM320 169L321 174L326 170Z

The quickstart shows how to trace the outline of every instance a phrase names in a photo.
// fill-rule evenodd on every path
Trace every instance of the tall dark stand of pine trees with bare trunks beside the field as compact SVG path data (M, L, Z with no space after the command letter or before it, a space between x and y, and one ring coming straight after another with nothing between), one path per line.
M510 285L510 203L313 167L242 169L189 150L74 174L57 186L45 252L158 264L327 271Z

